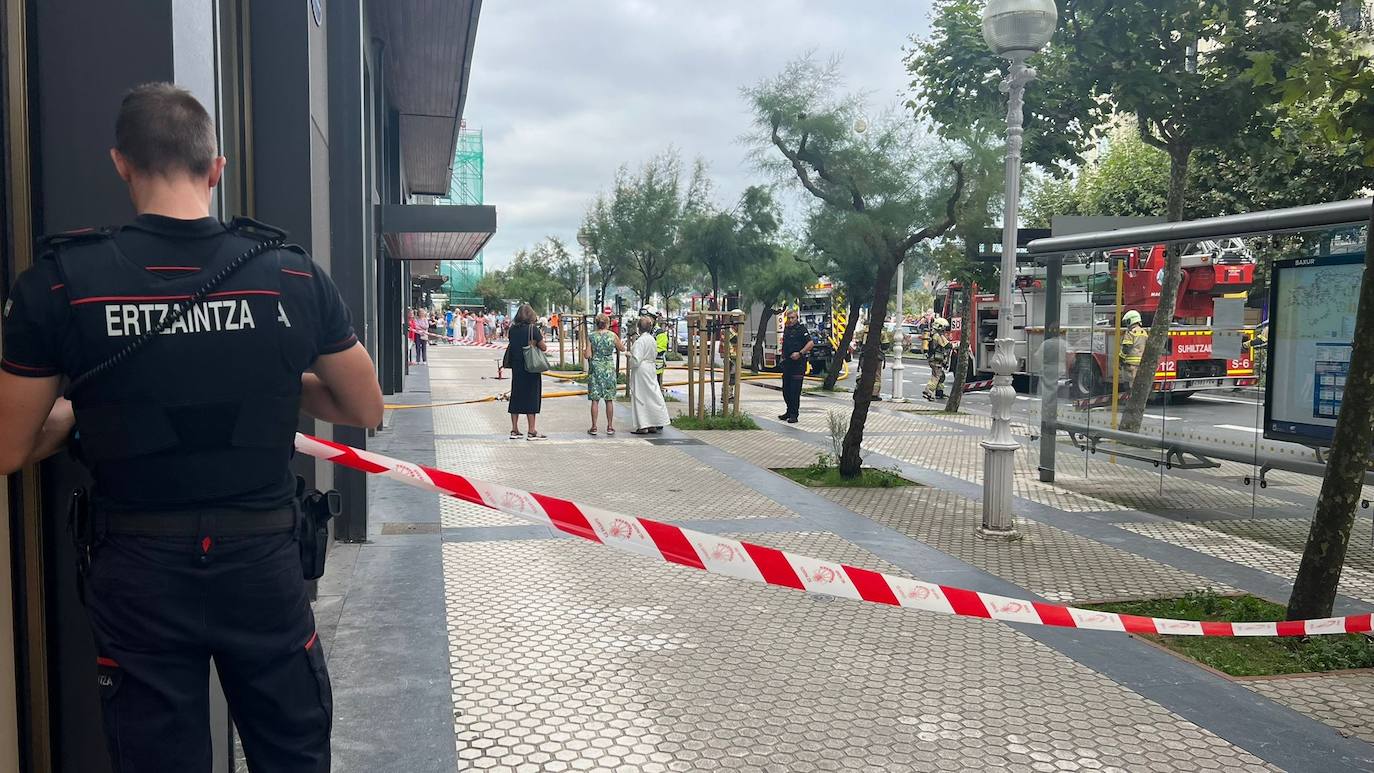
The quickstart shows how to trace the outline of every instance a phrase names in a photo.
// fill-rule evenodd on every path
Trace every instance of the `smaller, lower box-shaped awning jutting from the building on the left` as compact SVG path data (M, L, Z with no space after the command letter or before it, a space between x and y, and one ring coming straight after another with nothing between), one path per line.
M397 261L470 261L496 233L491 205L382 205L381 220Z

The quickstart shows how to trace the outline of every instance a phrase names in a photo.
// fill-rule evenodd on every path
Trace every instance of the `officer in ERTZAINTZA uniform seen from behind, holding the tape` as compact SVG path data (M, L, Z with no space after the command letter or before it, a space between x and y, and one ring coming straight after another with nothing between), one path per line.
M225 162L194 96L131 91L111 158L137 217L45 239L7 303L0 474L76 424L95 481L85 601L114 770L210 770L212 658L251 769L327 770L330 682L287 461L302 411L376 426L372 361L305 251L209 216ZM162 335L78 379L254 247Z

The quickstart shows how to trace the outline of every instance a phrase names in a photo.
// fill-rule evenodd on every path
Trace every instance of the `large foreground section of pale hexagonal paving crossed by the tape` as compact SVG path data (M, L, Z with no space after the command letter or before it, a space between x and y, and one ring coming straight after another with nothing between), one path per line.
M831 534L753 538L897 571ZM445 544L444 566L464 768L1272 770L985 621L576 542Z

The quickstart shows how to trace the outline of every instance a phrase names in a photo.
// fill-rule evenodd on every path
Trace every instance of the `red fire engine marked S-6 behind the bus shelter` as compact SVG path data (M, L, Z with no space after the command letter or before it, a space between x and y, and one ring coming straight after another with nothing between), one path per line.
M1059 324L1065 331L1063 375L1076 398L1109 393L1117 367L1116 314L1117 273L1121 287L1120 313L1136 310L1146 328L1160 306L1164 283L1165 247L1131 247L1113 250L1105 261L1066 264L1061 290ZM1044 342L1044 268L1017 270L1013 298L1011 338L1015 342L1017 371L1013 384L1030 391L1043 372ZM1184 400L1200 390L1232 389L1256 383L1254 365L1248 346L1238 358L1212 356L1210 327L1213 302L1224 295L1243 292L1254 281L1254 257L1239 239L1200 242L1182 259L1182 277L1169 341L1154 373L1154 391ZM949 290L960 290L949 283ZM944 294L944 308L952 312L954 292ZM999 303L995 294L974 292L970 320L974 321L977 345L974 362L981 375L992 371L992 353L998 330ZM960 317L947 317L963 335ZM1248 339L1249 336L1245 335ZM1123 387L1125 389L1125 387Z

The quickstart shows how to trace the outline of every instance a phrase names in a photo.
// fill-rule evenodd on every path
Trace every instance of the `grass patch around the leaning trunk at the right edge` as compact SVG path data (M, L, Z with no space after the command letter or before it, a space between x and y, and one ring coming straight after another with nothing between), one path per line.
M1182 599L1091 604L1091 610L1151 618L1217 622L1282 621L1285 608L1254 596L1190 593ZM1147 636L1232 677L1270 677L1342 669L1374 669L1374 640L1351 633L1312 637Z

